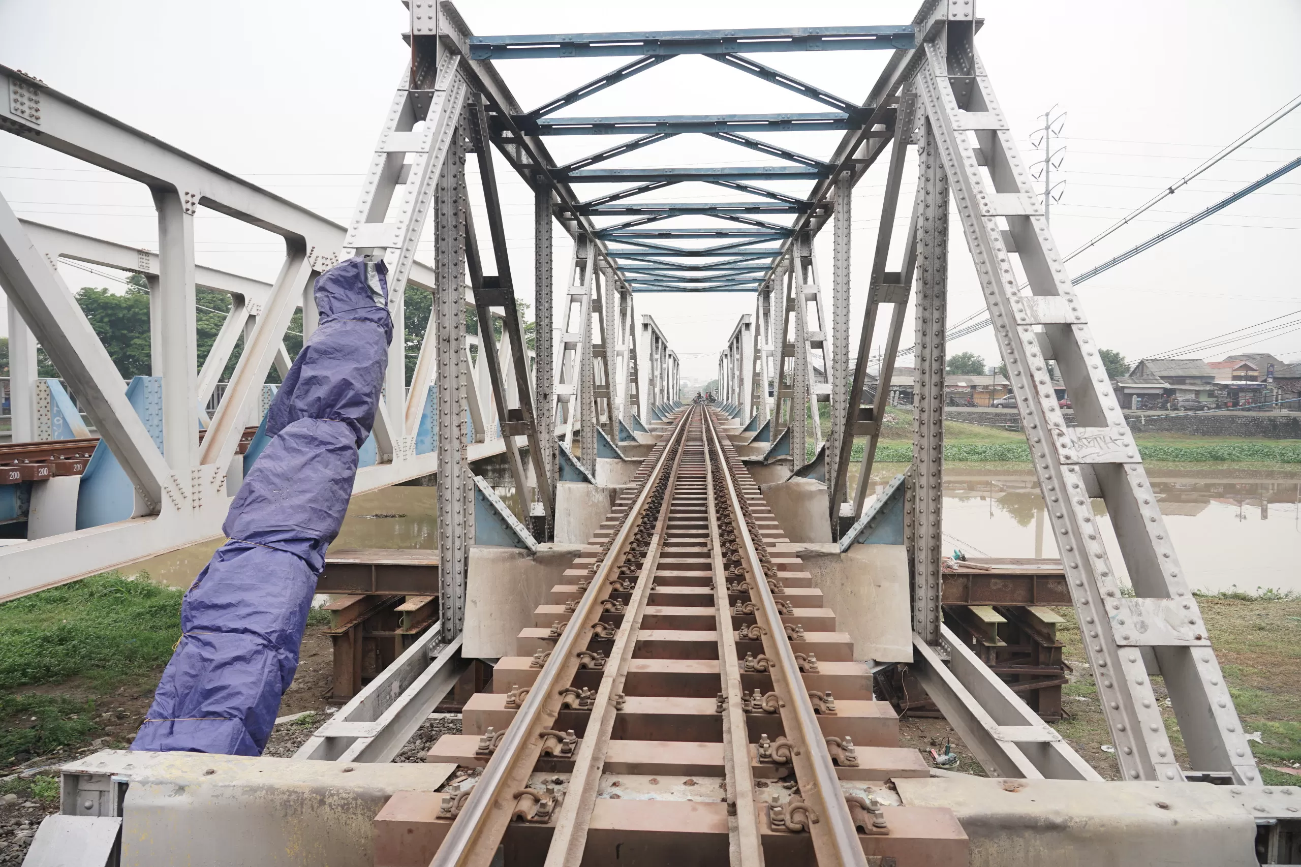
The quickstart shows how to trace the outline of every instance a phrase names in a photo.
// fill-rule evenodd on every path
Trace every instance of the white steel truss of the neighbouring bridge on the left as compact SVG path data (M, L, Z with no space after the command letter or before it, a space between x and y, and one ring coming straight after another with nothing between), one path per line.
M42 436L42 409L34 405L35 342L46 348L81 409L99 432L129 480L126 508L109 523L77 529L77 479L70 487L47 482L38 502L40 516L29 521L29 542L0 551L0 598L31 592L86 574L112 569L164 551L172 551L221 532L230 495L242 478L243 456L237 452L250 424L265 409L264 383L276 367L284 375L291 358L284 335L295 309L303 307L303 332L315 328L311 285L330 267L345 243L346 230L319 215L203 163L139 130L131 129L43 82L0 68L7 91L21 89L39 112L0 108L0 128L44 147L61 151L101 169L147 185L159 208L160 249L125 247L51 227L18 221L0 204L0 285L8 297L9 328L14 348L16 440ZM285 259L271 284L230 275L195 263L193 221L209 208L284 238ZM79 262L144 276L150 289L152 375L161 381L160 413L142 415L127 402L124 380L95 337L72 290L56 267ZM411 262L407 282L431 292L432 268ZM195 363L194 290L204 286L232 298L230 312L202 368ZM394 305L402 292L394 293ZM459 309L474 303L464 290L454 297ZM394 344L403 344L401 315ZM433 329L423 349L432 351ZM221 389L216 411L208 413L211 394L239 337L234 375ZM475 342L471 338L470 342ZM401 350L399 350L401 351ZM27 363L30 361L30 363ZM398 370L405 368L399 361ZM393 366L390 366L390 371ZM432 370L427 367L427 370ZM419 380L416 380L419 381ZM428 381L428 380L425 380ZM405 389L403 389L405 391ZM412 391L419 391L412 388ZM401 397L406 397L402 394ZM468 444L470 460L498 454L503 441L494 431L492 396L485 406L471 402L477 440ZM402 406L403 401L398 402ZM388 410L385 410L385 415ZM398 422L405 419L398 415ZM199 432L203 426L203 440ZM377 461L363 466L354 492L373 491L437 471L433 450L411 448L403 431L393 448L390 436L377 448ZM385 431L377 431L376 439ZM157 437L160 445L155 444ZM62 483L69 479L55 479ZM134 508L130 505L134 488ZM125 521L139 517L144 521ZM88 540L94 542L88 542Z

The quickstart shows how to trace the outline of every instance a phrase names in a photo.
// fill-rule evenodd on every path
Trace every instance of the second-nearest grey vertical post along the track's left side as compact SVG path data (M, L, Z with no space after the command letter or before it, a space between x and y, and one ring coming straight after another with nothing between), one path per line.
M548 489L554 491L558 467L556 461L556 410L552 400L556 394L556 346L554 346L554 318L556 299L553 286L556 282L554 264L552 262L552 202L554 194L546 185L544 177L535 178L533 187L533 301L537 305L533 324L533 406L537 407L537 440L541 452L543 467L548 479ZM541 478L539 478L541 482ZM550 497L548 513L554 508L556 500ZM548 529L549 532L549 529ZM549 536L548 536L549 538Z

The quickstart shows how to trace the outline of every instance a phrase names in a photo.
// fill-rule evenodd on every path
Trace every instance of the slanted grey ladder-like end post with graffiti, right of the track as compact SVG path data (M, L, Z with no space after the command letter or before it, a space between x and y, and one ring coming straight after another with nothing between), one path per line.
M1184 778L1149 680L1159 673L1192 771L1259 785L1206 624L972 30L969 21L950 22L922 46L919 92L1011 374L1121 776ZM1062 417L1049 361L1062 371L1075 426ZM1106 504L1102 516L1094 499ZM1121 592L1102 519L1111 521L1133 598Z

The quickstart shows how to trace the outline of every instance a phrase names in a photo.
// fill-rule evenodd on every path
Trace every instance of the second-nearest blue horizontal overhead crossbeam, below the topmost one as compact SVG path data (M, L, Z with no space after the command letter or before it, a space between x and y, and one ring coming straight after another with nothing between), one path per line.
M782 115L661 115L626 117L515 118L533 135L644 135L647 133L796 133L837 131L856 126L843 112Z

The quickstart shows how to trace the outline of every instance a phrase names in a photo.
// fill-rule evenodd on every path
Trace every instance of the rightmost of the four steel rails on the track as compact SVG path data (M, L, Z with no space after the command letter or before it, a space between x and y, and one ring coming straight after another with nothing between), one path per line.
M813 838L817 863L821 867L831 864L866 867L863 844L859 841L857 828L850 816L850 807L840 790L835 764L827 751L822 728L813 712L813 703L809 700L799 663L795 660L795 652L786 635L781 612L777 611L777 603L773 600L773 590L768 586L762 561L745 521L747 513L732 478L731 444L729 443L729 448L725 449L723 440L714 427L713 415L706 413L705 418L708 419L709 439L713 440L721 462L727 469L727 473L722 474L727 488L727 505L735 518L751 599L756 603L755 614L761 631L764 654L769 660L773 660L770 669L773 690L779 700L778 712L782 717L782 726L786 729L787 737L795 741L791 764L795 768L800 794L808 799L809 806L816 812L816 816L809 816L808 829Z

